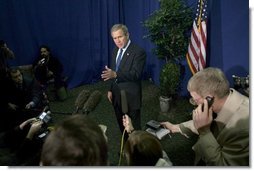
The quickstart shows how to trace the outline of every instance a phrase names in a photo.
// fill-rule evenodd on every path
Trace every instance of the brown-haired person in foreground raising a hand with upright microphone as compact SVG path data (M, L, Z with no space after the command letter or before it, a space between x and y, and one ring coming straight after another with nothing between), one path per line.
M129 166L172 166L157 137L146 131L134 131L131 119L123 116L123 125L129 137L124 155Z

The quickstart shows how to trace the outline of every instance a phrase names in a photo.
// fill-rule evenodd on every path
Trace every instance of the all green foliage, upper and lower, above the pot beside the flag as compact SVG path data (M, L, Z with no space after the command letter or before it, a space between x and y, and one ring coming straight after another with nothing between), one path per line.
M160 8L145 21L148 34L158 59L164 59L165 65L160 73L161 96L170 98L178 93L180 86L180 64L188 48L192 26L192 9L183 0L159 0ZM178 78L176 78L178 77Z

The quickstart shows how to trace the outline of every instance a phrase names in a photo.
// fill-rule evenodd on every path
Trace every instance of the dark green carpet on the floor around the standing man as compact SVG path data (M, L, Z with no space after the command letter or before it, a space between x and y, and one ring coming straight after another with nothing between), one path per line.
M102 98L96 108L89 113L89 117L93 118L98 124L107 126L109 161L111 166L118 166L120 151L121 132L119 131L117 121L115 119L112 105L107 100L107 82L98 82L92 85L83 85L68 90L68 98L65 101L57 101L54 96L50 97L50 109L52 111L53 122L57 123L63 118L68 117L70 113L75 111L75 100L78 94L83 90L99 90ZM141 109L141 122L145 129L145 124L151 119L158 121L170 121L179 123L191 119L190 111L192 106L187 98L179 97L171 105L168 113L160 113L159 106L159 90L158 87L149 81L143 81L143 106ZM49 93L53 94L53 93ZM68 114L69 113L69 114ZM161 140L164 150L167 152L174 166L192 166L194 161L194 153L191 149L197 137L185 138L180 134L166 136Z

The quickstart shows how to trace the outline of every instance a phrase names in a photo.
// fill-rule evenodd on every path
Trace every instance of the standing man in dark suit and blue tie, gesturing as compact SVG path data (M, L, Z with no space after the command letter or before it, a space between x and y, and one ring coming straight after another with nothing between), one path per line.
M128 114L135 129L141 129L140 108L142 102L141 77L146 61L145 51L131 42L128 28L123 24L115 24L111 28L111 36L116 47L112 53L111 68L105 66L102 79L110 80L108 100L112 103L121 132L124 131L122 117ZM123 113L121 106L121 90L125 91L128 112Z

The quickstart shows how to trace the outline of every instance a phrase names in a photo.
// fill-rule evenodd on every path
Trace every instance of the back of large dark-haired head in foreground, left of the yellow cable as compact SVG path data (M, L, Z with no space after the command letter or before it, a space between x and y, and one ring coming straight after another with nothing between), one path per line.
M40 165L107 166L108 147L102 129L86 115L71 115L46 138Z

